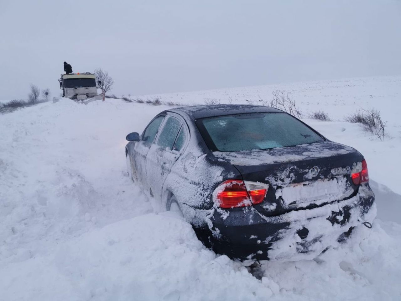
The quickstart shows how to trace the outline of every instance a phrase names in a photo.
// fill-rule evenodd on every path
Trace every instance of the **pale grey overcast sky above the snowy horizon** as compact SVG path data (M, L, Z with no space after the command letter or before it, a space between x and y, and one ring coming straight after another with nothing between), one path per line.
M0 0L0 99L63 61L117 96L400 75L401 1Z

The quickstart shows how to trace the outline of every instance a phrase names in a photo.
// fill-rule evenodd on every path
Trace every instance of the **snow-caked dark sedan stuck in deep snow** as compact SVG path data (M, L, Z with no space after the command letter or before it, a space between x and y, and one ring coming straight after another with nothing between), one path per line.
M130 177L231 258L313 258L376 215L364 157L274 108L174 108L127 140Z

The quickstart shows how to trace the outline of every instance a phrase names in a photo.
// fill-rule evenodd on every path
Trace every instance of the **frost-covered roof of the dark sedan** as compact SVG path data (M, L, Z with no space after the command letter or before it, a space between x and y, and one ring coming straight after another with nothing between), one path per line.
M168 110L182 115L182 113L189 116L191 119L208 118L215 116L233 115L233 114L249 114L249 113L270 113L280 112L271 107L265 106L252 106L244 104L216 104L216 105L203 105L203 106L188 106Z

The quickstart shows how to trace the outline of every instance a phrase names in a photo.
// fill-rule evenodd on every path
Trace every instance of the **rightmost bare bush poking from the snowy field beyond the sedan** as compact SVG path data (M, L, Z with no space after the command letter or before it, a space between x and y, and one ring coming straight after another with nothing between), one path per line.
M374 134L380 140L384 140L387 121L383 122L380 111L376 109L358 110L344 120L350 123L361 123L365 131Z

